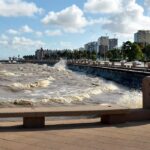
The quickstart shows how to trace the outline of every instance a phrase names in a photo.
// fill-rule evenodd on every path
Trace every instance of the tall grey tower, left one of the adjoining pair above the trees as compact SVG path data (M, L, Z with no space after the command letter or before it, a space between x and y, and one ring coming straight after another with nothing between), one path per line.
M100 53L100 55L104 55L109 49L109 37L101 36L97 43L97 52Z

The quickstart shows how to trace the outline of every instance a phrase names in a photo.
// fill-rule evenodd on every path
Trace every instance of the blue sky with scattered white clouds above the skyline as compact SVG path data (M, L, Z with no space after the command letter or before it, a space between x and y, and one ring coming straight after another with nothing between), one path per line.
M0 59L150 30L150 0L0 0Z

